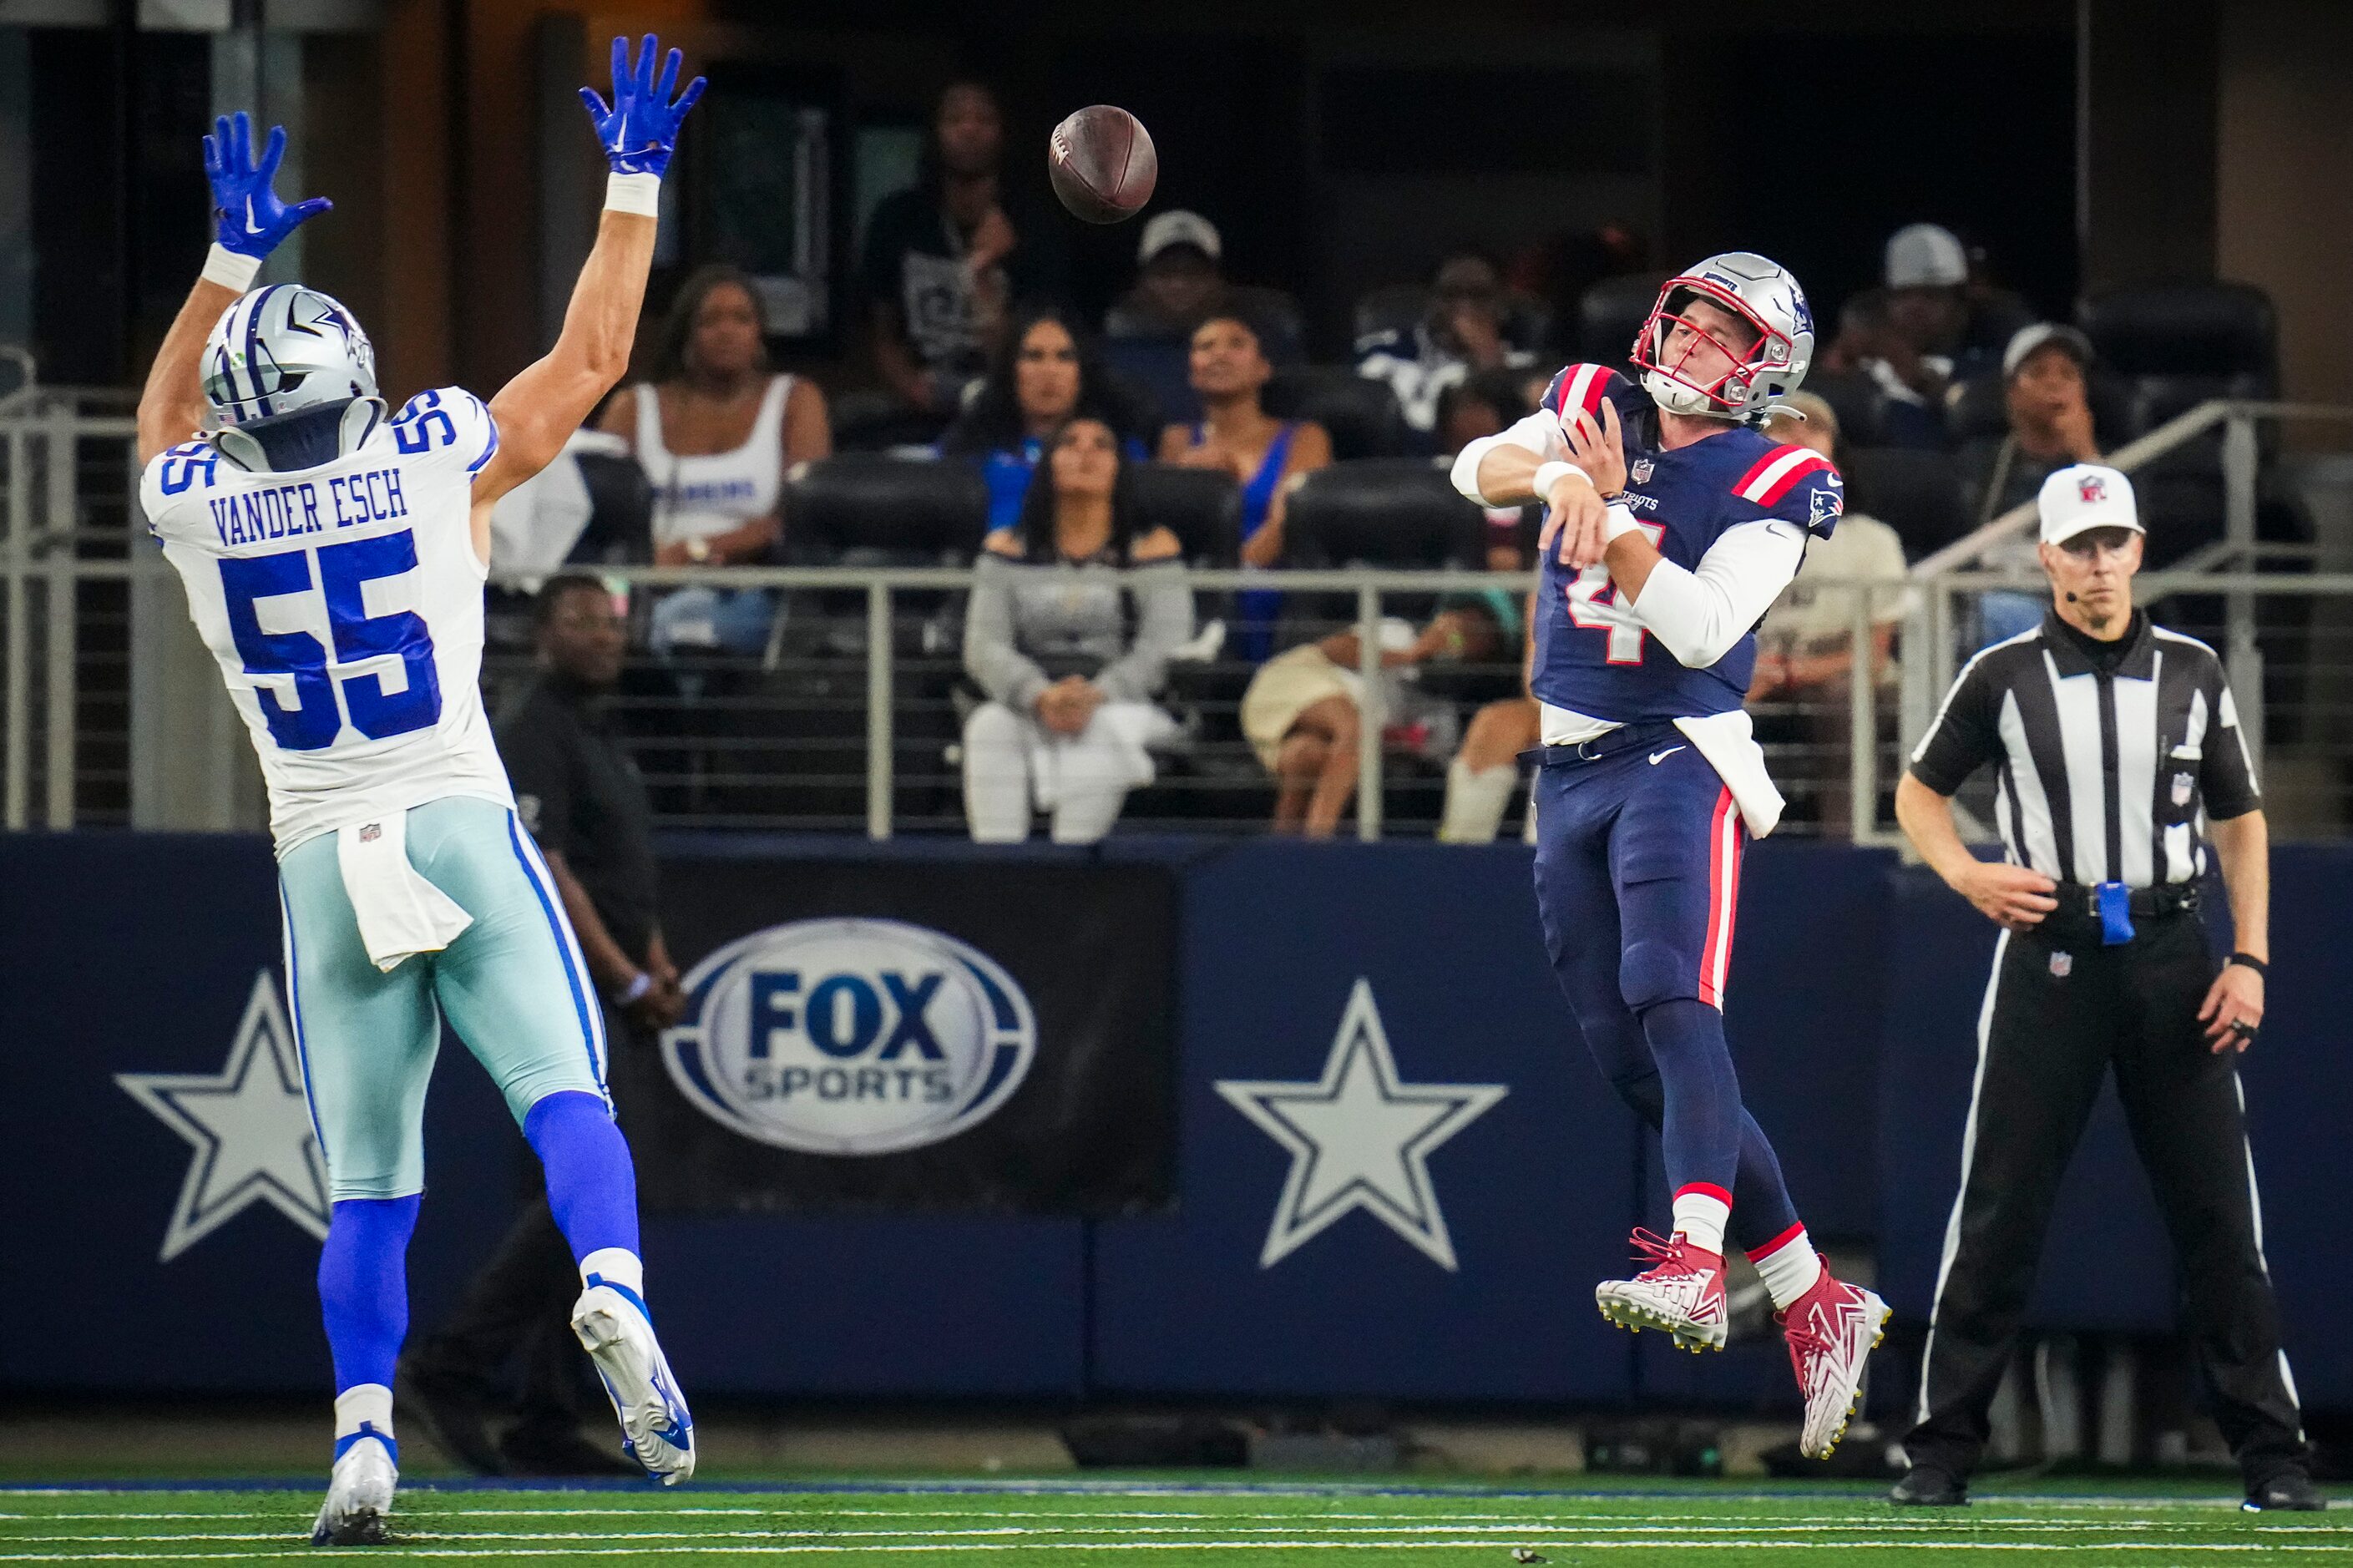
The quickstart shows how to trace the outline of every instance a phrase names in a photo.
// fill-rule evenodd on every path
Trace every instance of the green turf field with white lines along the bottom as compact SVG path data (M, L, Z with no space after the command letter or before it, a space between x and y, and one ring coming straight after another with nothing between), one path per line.
M0 1561L280 1561L306 1556L315 1493L9 1490ZM2064 1552L2071 1563L2353 1563L2348 1514L2240 1514L2200 1500L1988 1495L1948 1514L1873 1493L1689 1488L1652 1495L1379 1488L1019 1483L840 1490L405 1490L376 1559L720 1563L894 1556L951 1568L1186 1561L1440 1568L1515 1561L1946 1563ZM1518 1556L1534 1554L1534 1556ZM1988 1556L1991 1554L1991 1556ZM1153 1559L1148 1559L1153 1561Z

